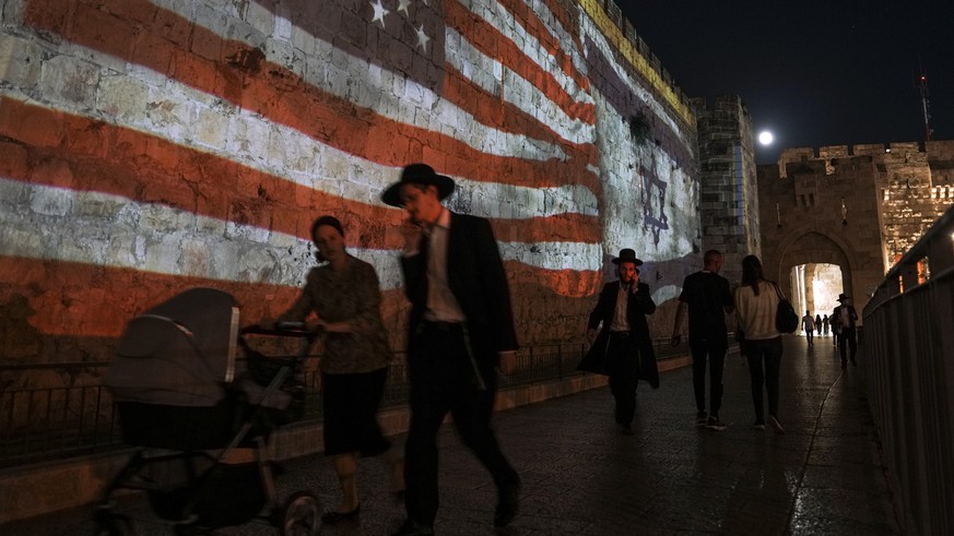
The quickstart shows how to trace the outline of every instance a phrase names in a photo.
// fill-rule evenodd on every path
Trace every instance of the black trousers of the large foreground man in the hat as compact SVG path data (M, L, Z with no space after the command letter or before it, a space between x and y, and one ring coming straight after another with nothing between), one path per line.
M520 479L491 428L496 371L482 360L481 388L468 343L460 327L425 322L408 348L411 426L404 453L404 507L408 519L421 525L433 525L437 516L437 432L448 413L461 441L491 473L498 489Z

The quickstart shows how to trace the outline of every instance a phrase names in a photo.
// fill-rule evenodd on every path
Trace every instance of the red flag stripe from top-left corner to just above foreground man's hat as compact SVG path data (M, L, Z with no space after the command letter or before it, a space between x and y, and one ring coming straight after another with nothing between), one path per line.
M435 164L435 168L445 172L452 169L454 174L475 181L530 188L579 183L599 192L598 179L580 168L582 162L568 167L561 158L539 162L488 155L448 135L382 118L369 108L319 91L297 74L264 61L259 49L222 39L175 13L156 10L152 24L139 27L110 14L114 9L123 12L134 9L129 4L153 9L144 0L104 3L92 7L73 5L69 0L31 0L24 19L32 26L166 73L329 146L381 165L435 163L436 155L446 166ZM197 47L199 43L201 47ZM199 56L197 49L214 50L217 57Z

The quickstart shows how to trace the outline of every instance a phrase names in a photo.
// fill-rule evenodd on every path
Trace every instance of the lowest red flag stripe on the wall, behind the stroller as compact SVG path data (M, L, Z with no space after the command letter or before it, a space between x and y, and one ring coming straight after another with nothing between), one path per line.
M298 287L175 276L55 260L0 255L0 264L3 265L0 302L11 302L17 295L25 297L34 312L26 311L26 322L46 335L116 337L131 318L195 287L217 288L235 296L242 307L242 323L248 325L274 319L291 307L301 293ZM547 296L590 296L600 282L599 272L541 270L517 262L505 265L511 286L537 287ZM45 291L37 291L38 288ZM396 325L405 308L402 289L382 291L381 313L386 324Z

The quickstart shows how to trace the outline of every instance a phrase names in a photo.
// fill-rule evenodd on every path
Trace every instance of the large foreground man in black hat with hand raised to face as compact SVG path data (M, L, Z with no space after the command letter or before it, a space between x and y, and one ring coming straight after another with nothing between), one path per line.
M401 267L411 301L408 369L411 426L404 460L408 520L397 534L433 534L437 515L437 431L450 413L461 440L497 487L494 525L517 514L520 477L491 428L497 371L513 370L517 334L507 275L490 222L440 202L454 181L411 164L381 200L403 207Z

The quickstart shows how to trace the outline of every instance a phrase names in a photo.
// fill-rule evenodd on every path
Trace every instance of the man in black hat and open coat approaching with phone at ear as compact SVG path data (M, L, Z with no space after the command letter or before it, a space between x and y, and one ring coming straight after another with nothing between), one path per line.
M587 335L593 344L577 368L610 377L610 391L616 400L616 424L628 434L633 433L638 381L659 388L659 369L646 322L646 315L656 311L656 302L649 295L649 285L639 282L637 266L643 261L635 251L620 250L613 264L619 281L606 283L600 293L587 325ZM597 334L600 324L602 329Z

